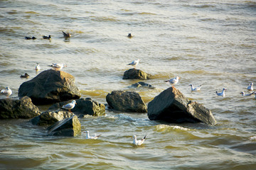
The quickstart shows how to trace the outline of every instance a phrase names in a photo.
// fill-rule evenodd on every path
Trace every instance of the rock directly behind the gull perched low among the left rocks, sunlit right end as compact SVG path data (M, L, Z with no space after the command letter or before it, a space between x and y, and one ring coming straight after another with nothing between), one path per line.
M55 103L50 106L48 110L54 110L61 108L63 105L70 103L70 101ZM97 103L97 101L92 101L91 98L80 98L76 100L75 108L71 111L81 113L83 115L94 115L100 116L105 114L105 105L102 103Z

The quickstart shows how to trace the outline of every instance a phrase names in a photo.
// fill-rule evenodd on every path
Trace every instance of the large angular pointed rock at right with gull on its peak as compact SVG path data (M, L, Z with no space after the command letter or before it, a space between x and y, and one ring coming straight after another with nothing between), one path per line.
M188 101L178 89L172 87L149 102L148 117L150 120L164 120L169 123L216 124L208 108L200 103Z

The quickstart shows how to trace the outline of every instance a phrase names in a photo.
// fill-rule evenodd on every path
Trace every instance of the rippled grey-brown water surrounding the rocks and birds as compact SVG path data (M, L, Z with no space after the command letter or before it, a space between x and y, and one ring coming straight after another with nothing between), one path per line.
M240 95L256 84L255 1L2 0L0 8L0 87L12 97L52 62L68 64L63 71L82 97L99 103L130 90L147 104L169 87L164 80L179 76L176 88L218 122L177 125L106 110L81 118L76 137L46 137L28 120L0 120L0 169L256 169L256 99ZM135 59L156 89L131 89L138 80L122 79ZM25 72L31 77L20 79ZM203 87L192 93L188 84ZM226 96L217 97L223 87ZM85 140L86 130L102 137ZM134 147L133 135L148 138Z

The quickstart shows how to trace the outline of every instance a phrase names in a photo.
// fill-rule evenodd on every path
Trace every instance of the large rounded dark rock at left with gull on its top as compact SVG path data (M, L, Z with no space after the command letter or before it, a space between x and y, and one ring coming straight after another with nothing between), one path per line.
M28 96L36 104L47 104L80 98L81 94L75 86L75 77L63 71L48 69L21 84L18 96Z

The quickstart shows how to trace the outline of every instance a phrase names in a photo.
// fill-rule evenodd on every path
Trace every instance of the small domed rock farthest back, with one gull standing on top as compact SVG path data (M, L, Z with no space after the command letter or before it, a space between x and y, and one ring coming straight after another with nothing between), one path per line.
M149 74L140 69L128 69L124 72L123 79L149 79Z

